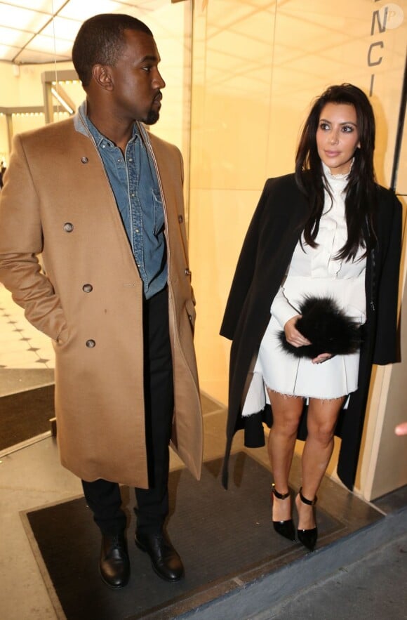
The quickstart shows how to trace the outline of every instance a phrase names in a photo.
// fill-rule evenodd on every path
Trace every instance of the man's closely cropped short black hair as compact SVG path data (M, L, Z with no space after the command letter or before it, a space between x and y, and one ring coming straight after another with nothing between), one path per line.
M114 67L126 44L126 29L153 36L144 22L121 13L94 15L81 25L72 47L72 62L84 88L91 82L94 65Z

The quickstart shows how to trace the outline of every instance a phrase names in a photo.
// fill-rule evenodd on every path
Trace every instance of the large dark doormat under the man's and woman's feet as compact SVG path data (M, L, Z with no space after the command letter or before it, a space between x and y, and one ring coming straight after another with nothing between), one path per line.
M109 590L98 574L100 534L83 498L22 513L58 617L174 618L302 557L299 543L272 529L267 468L243 452L232 455L225 491L221 465L221 459L204 463L200 482L185 469L170 474L168 533L185 565L178 583L159 579L147 554L135 548L133 489L121 489L130 521L131 580L120 591ZM318 526L321 536L341 529L323 510Z

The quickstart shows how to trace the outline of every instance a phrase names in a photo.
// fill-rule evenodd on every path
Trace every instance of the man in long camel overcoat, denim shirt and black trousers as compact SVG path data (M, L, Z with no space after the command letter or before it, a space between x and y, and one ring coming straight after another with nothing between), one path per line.
M86 91L75 117L15 136L0 281L53 339L60 459L100 527L102 580L121 588L130 574L121 483L135 487L135 543L177 581L169 442L197 478L202 460L182 157L144 126L165 86L144 23L96 15L72 59Z

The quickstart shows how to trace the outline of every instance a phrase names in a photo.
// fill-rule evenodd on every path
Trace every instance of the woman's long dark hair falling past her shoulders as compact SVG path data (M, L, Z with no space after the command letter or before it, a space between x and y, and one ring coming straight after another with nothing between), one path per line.
M316 130L321 111L327 103L345 103L356 110L360 148L356 149L345 190L345 212L347 221L347 242L340 249L337 258L352 260L359 247L366 251L375 242L374 214L376 204L375 171L373 152L375 150L375 117L365 93L352 84L329 86L317 98L305 121L295 157L295 180L309 201L309 218L305 224L305 242L316 247L316 235L323 211L324 187L328 190L323 174L322 162L316 147Z

